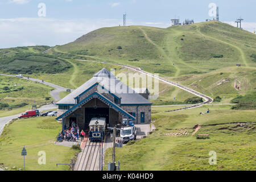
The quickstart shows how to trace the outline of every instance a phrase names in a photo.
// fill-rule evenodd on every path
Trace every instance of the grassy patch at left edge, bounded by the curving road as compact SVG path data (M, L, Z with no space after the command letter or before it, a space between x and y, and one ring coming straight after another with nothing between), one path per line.
M52 100L51 86L16 77L0 76L0 117L22 113L32 105L41 105ZM48 101L46 98L48 97ZM7 111L8 107L13 110Z

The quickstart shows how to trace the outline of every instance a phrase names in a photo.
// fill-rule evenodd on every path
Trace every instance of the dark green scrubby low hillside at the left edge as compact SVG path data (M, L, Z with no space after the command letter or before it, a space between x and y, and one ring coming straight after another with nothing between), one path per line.
M60 73L71 65L56 56L43 53L48 46L16 47L0 49L0 71L11 74Z

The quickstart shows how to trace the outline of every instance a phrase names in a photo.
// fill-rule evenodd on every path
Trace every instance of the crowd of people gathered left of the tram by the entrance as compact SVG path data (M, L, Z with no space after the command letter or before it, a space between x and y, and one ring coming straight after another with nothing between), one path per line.
M72 122L72 127L64 127L64 129L59 133L57 137L57 141L68 141L68 142L76 142L79 140L79 136L81 137L81 141L84 140L85 132L84 130L81 131L79 126L76 125L75 122Z

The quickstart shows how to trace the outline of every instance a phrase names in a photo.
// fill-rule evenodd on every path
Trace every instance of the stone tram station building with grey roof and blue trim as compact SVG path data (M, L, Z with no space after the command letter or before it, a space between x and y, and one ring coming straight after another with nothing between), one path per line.
M94 117L106 118L110 127L121 125L124 118L138 124L149 123L152 103L146 99L147 93L143 91L140 94L129 88L104 68L57 102L56 119L62 122L63 128L75 122L84 130L88 129L90 119Z

